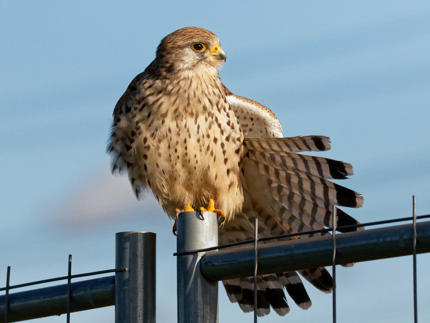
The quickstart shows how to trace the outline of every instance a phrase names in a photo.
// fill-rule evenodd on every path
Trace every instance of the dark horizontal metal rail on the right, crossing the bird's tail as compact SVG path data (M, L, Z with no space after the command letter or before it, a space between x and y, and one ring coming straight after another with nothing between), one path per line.
M430 252L430 221L417 223L417 253ZM412 224L336 234L336 264L412 255ZM258 246L258 274L332 265L332 236L271 242ZM254 248L208 252L200 270L209 280L252 277Z

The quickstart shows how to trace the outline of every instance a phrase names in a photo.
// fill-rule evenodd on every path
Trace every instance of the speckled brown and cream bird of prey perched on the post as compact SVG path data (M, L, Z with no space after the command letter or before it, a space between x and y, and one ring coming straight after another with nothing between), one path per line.
M224 220L220 244L253 239L255 218L258 236L270 237L331 226L333 205L362 206L358 193L329 181L353 175L350 164L298 154L330 149L329 138L283 138L272 111L221 83L217 68L225 59L218 37L203 28L164 37L154 61L115 106L107 147L112 172L128 175L136 197L154 194L170 218L178 209L204 210L209 203L207 209ZM337 210L338 226L357 223ZM325 268L298 273L331 292ZM253 278L223 283L230 301L253 311ZM310 307L295 271L263 275L259 316L270 306L279 315L289 312L284 287L300 308Z

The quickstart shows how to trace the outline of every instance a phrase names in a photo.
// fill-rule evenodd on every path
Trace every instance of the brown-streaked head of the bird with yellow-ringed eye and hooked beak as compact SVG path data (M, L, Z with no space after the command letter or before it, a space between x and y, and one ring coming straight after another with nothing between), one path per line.
M186 27L164 37L156 59L166 70L183 71L202 66L217 68L226 55L218 37L209 30Z

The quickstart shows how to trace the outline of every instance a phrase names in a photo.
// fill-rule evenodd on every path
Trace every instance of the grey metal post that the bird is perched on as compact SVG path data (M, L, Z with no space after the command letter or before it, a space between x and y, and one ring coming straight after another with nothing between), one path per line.
M182 212L177 221L177 251L218 246L218 215L212 212ZM218 282L200 272L204 252L181 255L177 261L178 323L218 322Z

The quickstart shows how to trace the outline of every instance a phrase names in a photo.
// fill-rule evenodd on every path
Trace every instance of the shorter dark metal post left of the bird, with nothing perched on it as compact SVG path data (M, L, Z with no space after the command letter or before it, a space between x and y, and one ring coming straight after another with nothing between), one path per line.
M155 255L153 232L115 235L115 323L155 323Z

